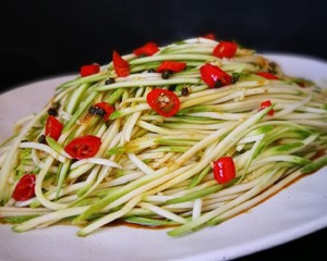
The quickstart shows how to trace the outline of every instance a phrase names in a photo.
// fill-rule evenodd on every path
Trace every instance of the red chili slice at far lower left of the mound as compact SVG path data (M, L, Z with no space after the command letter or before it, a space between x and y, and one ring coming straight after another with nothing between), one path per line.
M12 197L17 201L24 201L35 196L35 174L25 174L16 184Z

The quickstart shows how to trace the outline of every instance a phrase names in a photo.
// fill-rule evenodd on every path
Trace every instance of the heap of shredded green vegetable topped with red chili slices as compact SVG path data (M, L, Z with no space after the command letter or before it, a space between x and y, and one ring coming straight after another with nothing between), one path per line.
M1 145L14 232L123 221L181 236L327 164L326 92L237 42L145 42L80 73Z

